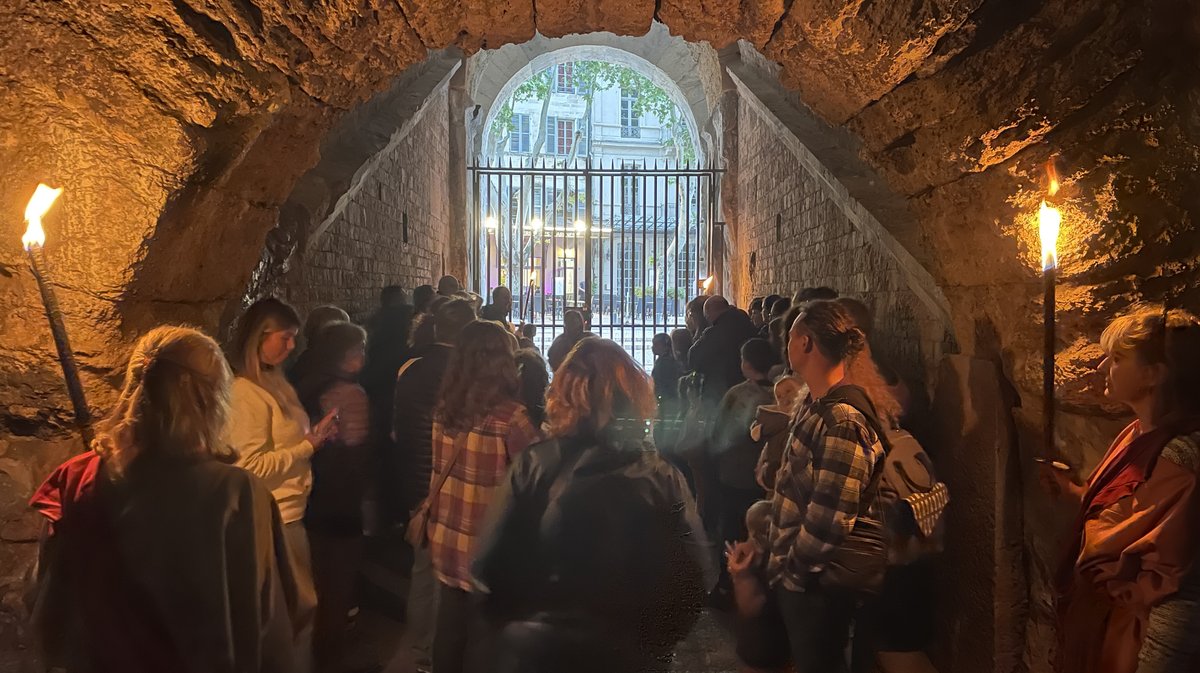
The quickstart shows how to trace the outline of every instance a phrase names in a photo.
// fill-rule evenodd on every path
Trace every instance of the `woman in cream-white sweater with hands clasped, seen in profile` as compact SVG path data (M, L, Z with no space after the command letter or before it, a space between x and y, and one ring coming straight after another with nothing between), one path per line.
M337 409L310 426L295 390L283 377L282 365L295 348L299 330L295 310L274 298L256 301L239 320L230 353L238 377L232 390L229 444L238 452L238 464L262 479L280 506L304 608L296 659L310 662L300 669L306 671L312 660L317 595L302 519L312 489L310 459L336 431Z

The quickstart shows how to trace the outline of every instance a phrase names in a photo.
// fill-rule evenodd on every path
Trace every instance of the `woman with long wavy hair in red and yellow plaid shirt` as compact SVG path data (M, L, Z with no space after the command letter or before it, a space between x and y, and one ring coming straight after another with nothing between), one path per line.
M516 337L499 323L463 328L433 415L430 555L440 583L433 669L484 666L487 629L470 593L470 559L484 515L509 464L540 439L521 403Z

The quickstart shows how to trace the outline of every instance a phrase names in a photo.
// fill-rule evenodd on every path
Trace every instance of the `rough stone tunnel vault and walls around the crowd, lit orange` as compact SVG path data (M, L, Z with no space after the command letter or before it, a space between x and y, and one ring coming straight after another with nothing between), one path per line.
M14 6L0 26L6 100L20 103L0 110L0 668L30 656L14 607L37 537L25 500L80 449L16 244L34 186L66 188L46 257L101 415L128 345L154 325L224 335L268 294L362 320L382 287L444 274L479 292L528 289L514 270L533 257L493 266L492 202L474 193L499 174L493 120L522 73L605 52L670 85L709 182L695 190L709 209L704 245L685 240L684 271L671 265L676 277L658 286L683 292L658 296L650 331L674 326L667 302L678 308L708 275L740 306L812 286L864 300L872 347L928 401L955 494L935 660L1048 671L1050 569L1069 512L1033 485L1043 167L1063 169L1058 451L1086 475L1124 420L1093 373L1100 329L1138 301L1196 307L1196 82L1177 48L1196 44L1195 11L1171 0ZM676 187L691 168L672 168ZM659 178L637 170L653 192ZM605 205L584 200L577 220L602 233L592 206ZM566 210L562 228L574 229ZM616 256L596 245L613 268L599 280L584 266L582 288L558 236L547 241L558 252L534 266L563 274L534 283L545 332L581 295L596 313L625 300L646 312L653 283L629 283L641 304L596 288L626 277L616 268L626 257L659 266L652 240ZM593 259L587 241L566 246L575 259Z

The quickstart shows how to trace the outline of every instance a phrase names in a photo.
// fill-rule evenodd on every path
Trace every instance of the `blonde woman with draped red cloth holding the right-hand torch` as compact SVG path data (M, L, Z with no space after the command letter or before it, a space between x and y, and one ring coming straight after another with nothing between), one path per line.
M1183 656L1193 659L1181 669L1195 669L1195 635L1177 637L1172 621L1200 595L1189 572L1200 542L1198 336L1186 311L1114 319L1100 336L1104 395L1135 419L1085 485L1040 468L1050 493L1079 505L1057 576L1060 673L1157 672Z

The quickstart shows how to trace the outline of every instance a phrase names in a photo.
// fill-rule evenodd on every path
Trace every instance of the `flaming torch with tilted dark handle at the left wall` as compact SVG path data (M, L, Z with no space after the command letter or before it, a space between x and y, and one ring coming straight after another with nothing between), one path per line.
M88 399L83 393L83 384L79 381L79 367L76 365L74 354L71 350L71 341L67 338L66 325L62 322L62 311L59 308L58 296L54 287L49 282L49 274L46 266L46 258L42 246L46 244L46 230L42 229L42 217L46 215L62 188L52 188L46 185L37 185L29 205L25 206L25 234L20 238L29 257L29 268L37 280L37 289L42 295L42 307L46 310L46 318L50 323L50 335L54 337L54 349L58 351L59 366L62 368L62 379L66 381L67 395L71 397L71 407L74 411L76 427L83 434L85 447L91 447L91 413L88 409Z

